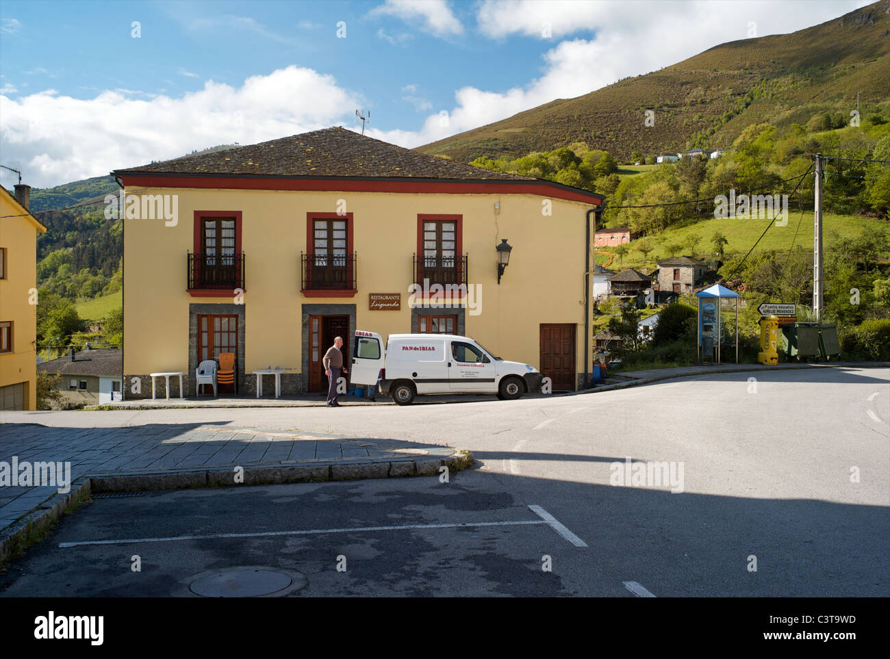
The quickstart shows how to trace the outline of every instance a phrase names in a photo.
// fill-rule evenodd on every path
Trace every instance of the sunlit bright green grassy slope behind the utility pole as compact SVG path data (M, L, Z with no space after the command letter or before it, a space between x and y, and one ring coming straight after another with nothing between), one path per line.
M798 221L799 229L797 229ZM764 232L765 227L765 220L736 220L727 218L725 220L710 219L700 221L681 229L667 229L658 236L650 237L651 242L655 245L655 249L649 253L649 258L646 259L645 263L643 262L643 254L636 252L633 248L634 243L631 243L631 250L625 254L620 266L619 258L616 256L614 261L612 261L610 269L640 268L646 264L654 266L659 259L666 259L670 256L665 249L665 245L671 243L684 245L677 255L691 255L689 247L685 245L685 241L692 234L701 237L701 242L695 248L696 256L700 258L707 256L714 251L710 242L716 231L720 231L729 240L725 253L747 253L751 245L754 245L760 234ZM890 235L890 222L870 220L869 218L856 217L854 215L823 213L822 240L824 241L825 249L830 250L835 245L837 239L845 240L858 236L867 227L877 228ZM795 238L796 230L797 237ZM837 231L837 237L832 235L832 231ZM789 213L788 224L783 227L773 225L766 232L764 239L757 245L757 250L780 250L787 253L792 245L792 241L794 245L801 245L805 250L813 249L813 211L805 211L803 217L800 212ZM599 261L600 259L597 257L597 262Z

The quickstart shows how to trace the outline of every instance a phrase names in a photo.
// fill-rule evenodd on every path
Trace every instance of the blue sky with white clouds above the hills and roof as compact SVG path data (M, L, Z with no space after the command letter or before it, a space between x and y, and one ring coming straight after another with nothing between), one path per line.
M864 4L4 0L0 162L47 187L356 108L414 147Z

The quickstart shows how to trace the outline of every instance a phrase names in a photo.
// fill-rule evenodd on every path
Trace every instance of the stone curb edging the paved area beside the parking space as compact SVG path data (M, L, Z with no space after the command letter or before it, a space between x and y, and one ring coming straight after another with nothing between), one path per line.
M78 478L67 494L53 494L35 509L9 526L0 537L0 566L23 555L35 535L44 534L69 506L84 502L102 492L145 492L190 487L231 487L241 485L279 485L283 483L321 483L365 478L401 478L438 476L441 468L461 471L473 465L473 454L455 452L445 458L423 460L319 462L311 465L256 466L243 468L243 482L235 482L235 471L221 468L166 470L150 473L97 474ZM39 542L39 541L38 541Z

